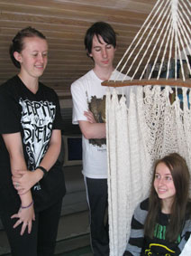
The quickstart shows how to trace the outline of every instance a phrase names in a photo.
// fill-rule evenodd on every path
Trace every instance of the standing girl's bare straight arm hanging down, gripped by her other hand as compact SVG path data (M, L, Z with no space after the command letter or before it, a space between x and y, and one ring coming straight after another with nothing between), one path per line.
M11 171L13 175L18 175L18 170L23 170L26 172L26 164L23 157L23 145L20 132L13 134L3 134L2 135L5 141L5 146L9 152ZM28 232L32 230L32 220L34 220L34 210L32 205L32 194L31 191L28 191L25 194L19 195L21 198L21 204L23 207L31 205L27 208L18 209L18 213L15 213L12 218L18 218L14 224L14 228L19 224L23 223L21 235L28 226Z

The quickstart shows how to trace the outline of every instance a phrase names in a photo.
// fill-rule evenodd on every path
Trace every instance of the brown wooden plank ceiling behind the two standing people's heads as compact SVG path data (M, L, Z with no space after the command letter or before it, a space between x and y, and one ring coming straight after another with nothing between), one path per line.
M139 31L156 0L0 0L0 84L17 70L9 44L18 30L31 25L47 36L49 63L41 81L68 97L73 81L92 68L84 35L97 21L112 24L118 33L114 65Z

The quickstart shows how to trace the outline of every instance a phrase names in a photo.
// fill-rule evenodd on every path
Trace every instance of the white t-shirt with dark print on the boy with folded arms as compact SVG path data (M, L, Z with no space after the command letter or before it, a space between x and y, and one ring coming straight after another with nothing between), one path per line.
M114 71L111 80L116 76ZM119 73L119 72L118 72ZM122 80L123 74L120 74L118 80ZM128 79L128 78L126 78ZM72 123L78 124L79 120L86 120L84 111L97 107L97 104L103 102L107 87L102 86L96 73L91 70L83 77L74 81L71 85L71 94L73 100L73 117ZM117 89L129 95L130 87ZM125 91L124 91L125 90ZM100 119L104 117L100 114ZM107 159L105 139L89 140L82 137L83 147L83 174L89 178L107 178Z

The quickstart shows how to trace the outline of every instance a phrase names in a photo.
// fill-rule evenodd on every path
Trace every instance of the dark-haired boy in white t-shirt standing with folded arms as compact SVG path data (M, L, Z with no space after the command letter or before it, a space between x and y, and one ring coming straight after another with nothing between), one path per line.
M86 31L86 54L94 68L71 85L73 124L83 134L83 175L90 213L91 244L94 255L109 255L107 210L107 160L105 134L105 94L102 81L119 74L114 71L116 33L110 24L97 22ZM123 89L124 90L124 89ZM130 89L126 89L126 93ZM126 94L126 95L127 95Z

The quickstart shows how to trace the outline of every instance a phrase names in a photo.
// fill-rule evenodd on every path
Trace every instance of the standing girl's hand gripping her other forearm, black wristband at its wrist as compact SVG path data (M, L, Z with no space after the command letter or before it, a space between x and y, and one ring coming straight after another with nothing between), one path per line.
M40 180L40 177L36 171L18 170L16 175L12 176L12 180L18 194L25 194Z

